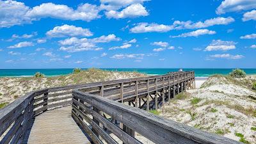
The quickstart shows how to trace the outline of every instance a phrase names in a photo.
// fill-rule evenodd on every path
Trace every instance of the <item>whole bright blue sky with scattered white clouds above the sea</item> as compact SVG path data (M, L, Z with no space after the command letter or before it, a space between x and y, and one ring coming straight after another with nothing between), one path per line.
M0 0L0 68L255 68L255 20L255 0Z

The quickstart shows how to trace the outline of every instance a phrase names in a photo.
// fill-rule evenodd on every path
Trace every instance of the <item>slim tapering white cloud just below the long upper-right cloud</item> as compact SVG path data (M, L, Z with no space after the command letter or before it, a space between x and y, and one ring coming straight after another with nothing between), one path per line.
M210 31L208 29L198 29L196 31L191 31L189 33L182 33L181 35L172 36L172 38L179 38L179 37L188 37L188 36L200 36L200 35L214 35L216 31Z

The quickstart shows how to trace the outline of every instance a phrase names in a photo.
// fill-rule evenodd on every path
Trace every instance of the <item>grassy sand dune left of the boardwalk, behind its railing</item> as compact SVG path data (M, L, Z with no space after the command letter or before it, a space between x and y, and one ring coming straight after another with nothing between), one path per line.
M80 68L75 68L72 74L65 76L45 77L44 74L36 72L33 77L0 77L0 108L33 90L144 76L146 75L138 72L113 72L96 68L81 70Z

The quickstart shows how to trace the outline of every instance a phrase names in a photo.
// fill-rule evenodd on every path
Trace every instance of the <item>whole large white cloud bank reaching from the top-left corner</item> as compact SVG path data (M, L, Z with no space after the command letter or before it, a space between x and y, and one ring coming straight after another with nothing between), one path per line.
M81 4L76 10L63 4L43 3L29 8L22 2L0 0L0 28L31 24L44 17L64 20L90 21L100 17L100 8L93 4Z

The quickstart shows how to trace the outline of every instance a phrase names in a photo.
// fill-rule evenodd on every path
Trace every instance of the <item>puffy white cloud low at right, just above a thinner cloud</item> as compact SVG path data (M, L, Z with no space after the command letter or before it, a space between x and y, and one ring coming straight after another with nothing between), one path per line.
M228 51L230 49L236 49L236 42L212 40L211 44L205 48L205 51Z

